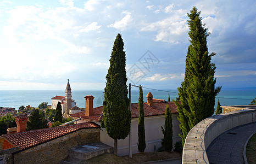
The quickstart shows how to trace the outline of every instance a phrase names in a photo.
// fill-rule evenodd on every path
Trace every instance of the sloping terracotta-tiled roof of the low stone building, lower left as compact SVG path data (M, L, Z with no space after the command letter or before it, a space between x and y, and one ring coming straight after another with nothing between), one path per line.
M9 140L20 150L26 150L36 145L43 144L55 138L65 136L66 134L84 129L84 128L99 128L100 126L93 122L82 124L66 125L53 128L43 128L40 130L25 131L13 134L3 134L2 137Z

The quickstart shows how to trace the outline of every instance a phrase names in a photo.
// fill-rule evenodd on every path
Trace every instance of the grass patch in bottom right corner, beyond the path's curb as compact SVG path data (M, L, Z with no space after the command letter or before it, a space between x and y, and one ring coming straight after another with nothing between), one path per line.
M253 134L246 146L246 157L249 164L255 164L256 156L256 133Z

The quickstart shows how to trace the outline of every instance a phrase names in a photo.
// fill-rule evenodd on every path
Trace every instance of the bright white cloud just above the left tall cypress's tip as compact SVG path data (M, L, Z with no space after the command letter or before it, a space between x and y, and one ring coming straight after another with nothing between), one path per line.
M133 21L131 13L129 13L128 11L123 11L122 14L125 14L125 17L123 17L123 19L121 19L120 21L115 21L114 24L110 24L108 25L108 27L124 29L127 26L130 26Z

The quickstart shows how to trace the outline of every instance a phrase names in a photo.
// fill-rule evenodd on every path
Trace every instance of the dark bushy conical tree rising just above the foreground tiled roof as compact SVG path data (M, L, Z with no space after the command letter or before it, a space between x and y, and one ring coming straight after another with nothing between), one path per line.
M44 118L38 109L34 109L31 115L29 116L29 120L26 124L27 130L36 130L40 128L49 127L47 124L47 120Z

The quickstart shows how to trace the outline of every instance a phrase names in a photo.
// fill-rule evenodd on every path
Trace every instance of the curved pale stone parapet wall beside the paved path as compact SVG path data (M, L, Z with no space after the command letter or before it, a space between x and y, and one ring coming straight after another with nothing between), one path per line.
M240 108L241 109L241 108ZM194 126L183 147L182 163L209 163L206 150L221 133L256 121L256 109L237 110L211 116Z

